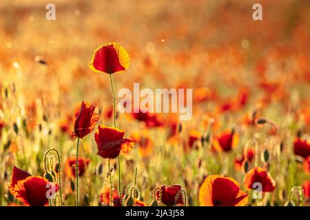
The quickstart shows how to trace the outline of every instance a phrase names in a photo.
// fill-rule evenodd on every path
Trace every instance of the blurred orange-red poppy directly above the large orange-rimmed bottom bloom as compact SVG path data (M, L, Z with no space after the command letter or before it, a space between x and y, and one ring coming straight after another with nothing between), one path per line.
M230 151L238 145L239 136L234 131L222 131L214 137L214 148L217 151Z

